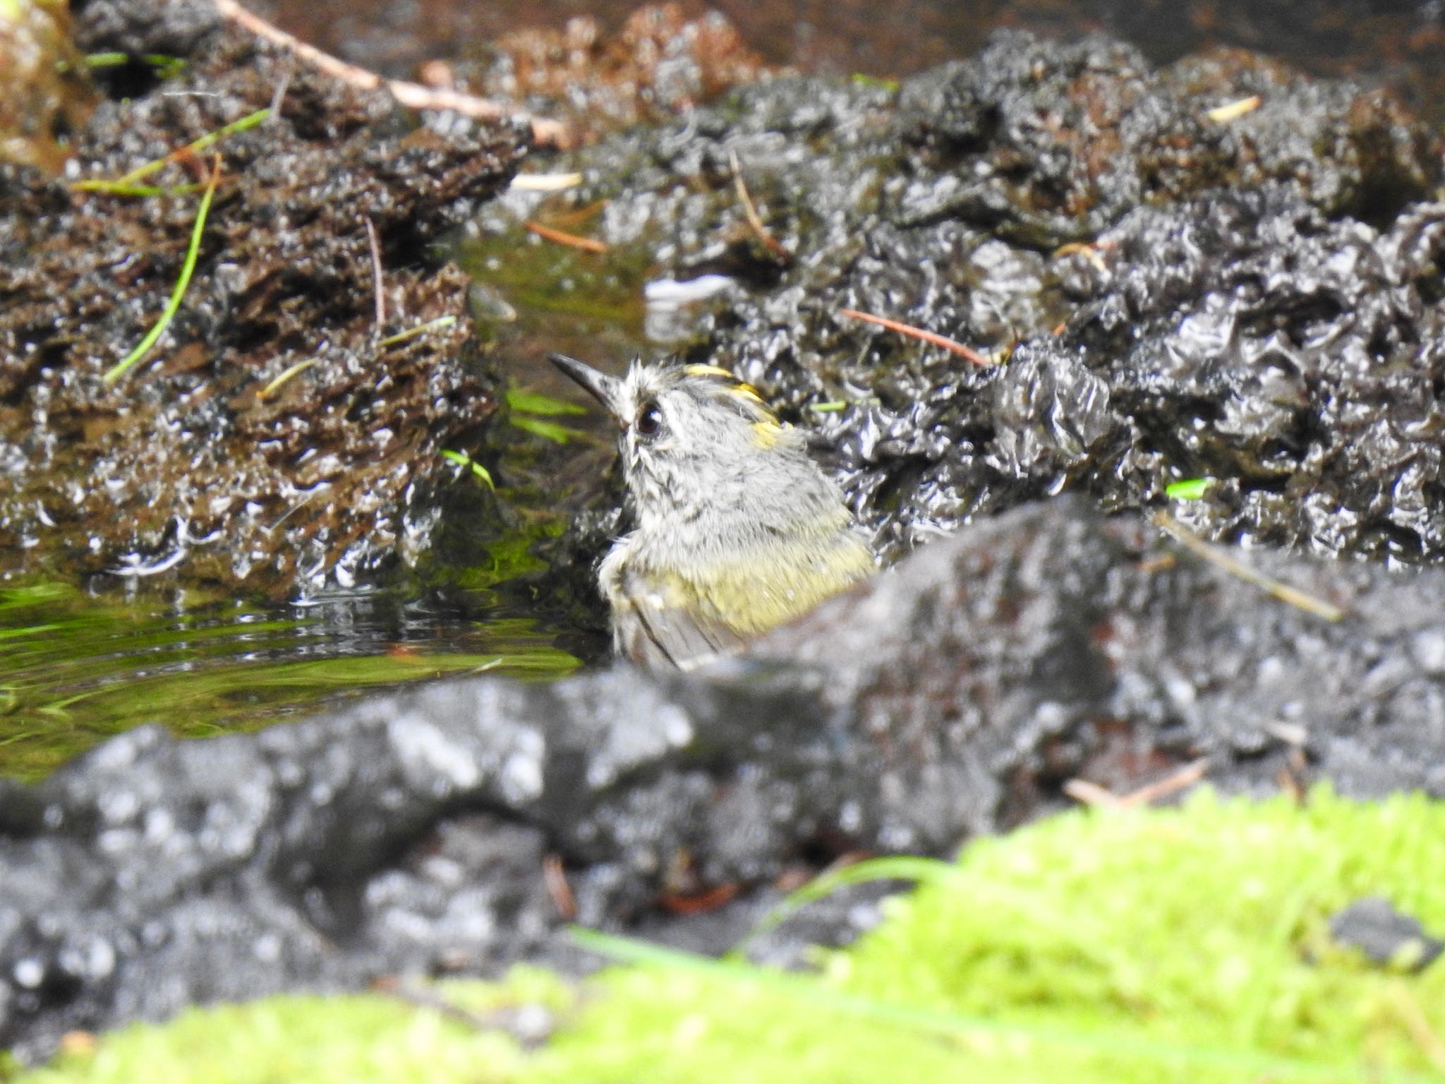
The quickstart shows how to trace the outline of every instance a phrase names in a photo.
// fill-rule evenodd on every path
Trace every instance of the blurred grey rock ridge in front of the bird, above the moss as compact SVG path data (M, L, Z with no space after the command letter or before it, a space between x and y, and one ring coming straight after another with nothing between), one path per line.
M478 678L256 736L116 739L0 792L0 1045L556 961L549 854L581 922L717 947L802 860L946 853L1075 775L1129 788L1207 756L1235 792L1287 770L1445 795L1445 571L1253 559L1345 619L1061 500L708 672ZM722 886L744 902L666 918Z

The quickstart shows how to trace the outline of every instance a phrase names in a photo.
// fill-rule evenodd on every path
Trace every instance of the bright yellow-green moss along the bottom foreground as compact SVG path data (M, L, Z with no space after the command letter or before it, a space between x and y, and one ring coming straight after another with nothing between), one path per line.
M225 1084L1441 1081L1445 961L1418 976L1373 967L1327 931L1376 895L1445 934L1441 869L1445 804L1201 793L1182 809L1058 817L980 841L957 867L919 866L926 883L857 947L821 955L818 976L623 947L649 960L590 984L535 1054L439 1019L409 1023L420 1010L396 1005L384 1025L355 1020L348 1045L345 1015L360 1010L312 1000L290 1031L259 1029L247 1016L259 1007L194 1013L25 1081L182 1078L158 1064ZM409 1059L407 1029L420 1026L431 1058ZM214 1049L194 1038L208 1029ZM481 1057L484 1044L496 1046ZM322 1045L327 1058L293 1061ZM253 1075L212 1072L217 1049L244 1049L227 1062ZM178 1061L185 1051L194 1061ZM327 1075L332 1064L347 1075Z

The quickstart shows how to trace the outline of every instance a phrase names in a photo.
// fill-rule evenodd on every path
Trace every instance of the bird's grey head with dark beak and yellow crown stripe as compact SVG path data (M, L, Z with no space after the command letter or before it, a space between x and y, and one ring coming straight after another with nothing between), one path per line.
M617 419L623 474L643 526L652 515L747 507L750 494L773 489L769 481L786 493L790 465L818 476L802 435L725 369L633 361L624 377L613 377L549 357Z

